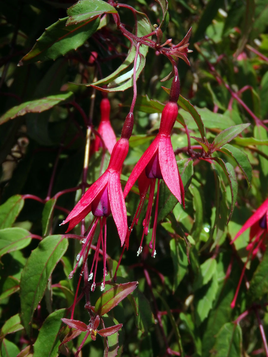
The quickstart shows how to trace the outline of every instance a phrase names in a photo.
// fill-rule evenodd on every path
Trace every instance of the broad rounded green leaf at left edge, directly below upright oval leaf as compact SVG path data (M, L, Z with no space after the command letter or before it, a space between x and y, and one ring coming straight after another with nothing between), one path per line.
M24 228L4 228L0 230L0 257L6 253L27 247L31 242L31 233Z

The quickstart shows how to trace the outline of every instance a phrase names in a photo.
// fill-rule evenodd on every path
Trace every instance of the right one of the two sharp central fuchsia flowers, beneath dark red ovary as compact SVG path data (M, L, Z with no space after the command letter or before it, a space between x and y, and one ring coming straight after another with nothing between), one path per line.
M148 234L149 222L152 213L153 197L156 179L158 178L158 188L157 188L157 197L156 197L156 207L155 207L155 218L153 225L153 235L152 241L149 246L152 251L152 257L155 257L155 233L157 225L157 211L158 211L158 198L159 198L159 180L163 178L169 190L177 198L177 200L184 205L184 188L183 183L179 175L177 162L175 159L173 147L171 144L170 134L173 129L175 120L178 115L178 105L175 101L169 101L162 112L161 122L159 127L159 132L155 137L152 144L144 152L140 160L135 165L131 175L126 182L124 189L124 196L129 193L131 187L134 185L135 181L138 180L139 191L140 191L140 203L135 214L132 226L130 227L129 232L131 231L134 223L138 223L138 218L140 210L143 206L143 202L146 196L146 193L150 187L149 191L149 202L147 207L147 212L145 219L143 221L143 235L140 242L140 247L137 252L139 255L142 252L142 241L144 235ZM129 236L129 235L128 235ZM128 239L126 238L126 248L128 248Z

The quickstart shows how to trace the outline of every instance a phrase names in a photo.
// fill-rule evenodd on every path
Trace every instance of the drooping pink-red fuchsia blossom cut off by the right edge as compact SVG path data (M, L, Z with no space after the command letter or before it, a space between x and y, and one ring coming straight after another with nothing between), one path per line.
M234 239L231 243L233 243L243 232L245 232L248 228L249 231L249 243L246 249L249 251L247 261L244 264L237 290L235 291L235 295L233 301L231 303L231 307L235 306L235 301L237 299L237 295L239 292L240 285L242 283L242 279L245 273L245 268L247 262L249 261L250 256L252 259L257 255L259 250L265 250L264 240L268 237L268 198L260 205L260 207L253 213L253 215L244 223L242 228L237 232Z

